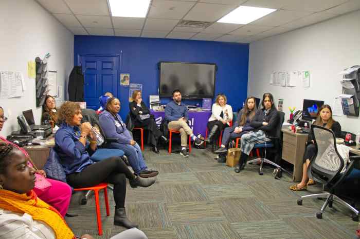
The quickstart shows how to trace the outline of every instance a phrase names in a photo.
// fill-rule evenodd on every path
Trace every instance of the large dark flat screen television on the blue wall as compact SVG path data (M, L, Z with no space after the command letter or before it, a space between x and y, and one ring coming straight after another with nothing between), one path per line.
M160 62L159 95L171 97L180 90L183 98L213 98L216 64Z

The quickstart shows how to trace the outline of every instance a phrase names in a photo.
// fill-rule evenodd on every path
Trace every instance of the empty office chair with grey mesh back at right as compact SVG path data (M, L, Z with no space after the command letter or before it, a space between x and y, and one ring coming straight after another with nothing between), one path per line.
M326 198L320 212L316 213L317 218L322 218L322 213L325 208L328 205L332 208L333 202L336 200L336 202L344 205L355 213L355 215L352 216L352 219L357 222L359 220L359 211L335 195L335 190L350 174L352 168L354 167L354 163L360 160L360 156L350 156L350 163L345 165L343 158L336 149L334 132L330 129L317 125L312 125L311 131L314 135L314 143L317 153L311 160L308 168L308 175L310 178L313 178L315 182L323 184L328 192L301 196L301 198L297 201L297 204L302 205L302 200L304 198ZM343 171L344 165L346 169L344 172L341 172Z

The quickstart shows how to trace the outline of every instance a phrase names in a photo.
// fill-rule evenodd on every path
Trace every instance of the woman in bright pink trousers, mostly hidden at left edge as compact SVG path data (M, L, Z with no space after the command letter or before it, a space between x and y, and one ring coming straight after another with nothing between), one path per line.
M7 118L4 116L4 110L0 106L0 131L3 129L6 120ZM30 158L29 154L23 148L20 148L19 146L11 143L10 141L7 141L6 138L0 136L0 141L3 141L7 144L11 144L16 148L19 148L25 154L26 157ZM29 160L29 165L37 170L35 174L42 174L43 176L46 177L45 171L38 170L36 166L32 164L31 160ZM44 191L39 190L36 187L33 190L41 200L55 207L64 217L70 204L71 188L69 185L61 181L51 180L50 178L46 178L46 180L51 184L51 187L45 189Z

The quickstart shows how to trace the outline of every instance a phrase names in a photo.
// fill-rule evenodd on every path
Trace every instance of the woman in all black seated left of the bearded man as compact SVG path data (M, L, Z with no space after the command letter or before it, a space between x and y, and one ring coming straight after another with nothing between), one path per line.
M153 146L153 151L159 153L157 144L161 138L164 142L168 139L163 135L156 125L154 117L151 116L149 108L143 103L141 91L135 90L132 95L133 102L129 104L130 116L135 127L142 127L149 130L148 144Z

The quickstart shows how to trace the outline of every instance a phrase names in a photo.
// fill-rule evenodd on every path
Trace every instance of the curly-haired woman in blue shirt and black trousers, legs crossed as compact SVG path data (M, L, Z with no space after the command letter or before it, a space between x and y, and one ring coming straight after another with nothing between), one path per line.
M81 124L82 115L77 103L65 102L59 109L59 118L63 123L55 134L55 150L67 183L74 188L92 187L102 182L114 184L114 224L137 227L125 212L126 178L132 188L149 187L155 180L135 176L120 157L94 163L90 155L96 151L96 137L90 123ZM90 142L86 140L87 136L90 136Z

